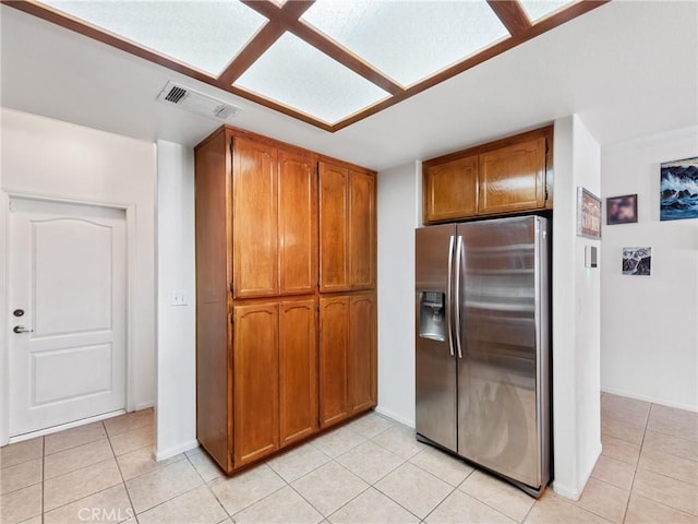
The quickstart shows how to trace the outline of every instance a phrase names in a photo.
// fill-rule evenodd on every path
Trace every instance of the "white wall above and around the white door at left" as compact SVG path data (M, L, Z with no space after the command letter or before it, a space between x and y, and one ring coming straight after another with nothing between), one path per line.
M2 108L2 198L8 193L133 206L134 274L130 275L133 324L129 333L133 358L129 362L128 408L155 402L155 144L96 131L58 120ZM3 206L2 214L7 213ZM4 226L4 222L3 222ZM7 242L7 236L4 242ZM7 249L7 245L3 246ZM4 254L4 253L3 253ZM131 302L133 298L133 302ZM7 293L2 293L2 307ZM7 333L0 334L0 360L7 369ZM7 378L2 386L7 386ZM4 393L3 397L7 396ZM3 404L0 404L0 409ZM7 424L7 406L0 424ZM7 441L0 428L0 443Z

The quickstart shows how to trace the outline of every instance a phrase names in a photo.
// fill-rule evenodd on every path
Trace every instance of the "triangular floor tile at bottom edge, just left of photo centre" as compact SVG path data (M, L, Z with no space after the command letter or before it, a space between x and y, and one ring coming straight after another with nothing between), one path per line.
M315 524L323 520L293 488L286 486L233 515L236 524Z

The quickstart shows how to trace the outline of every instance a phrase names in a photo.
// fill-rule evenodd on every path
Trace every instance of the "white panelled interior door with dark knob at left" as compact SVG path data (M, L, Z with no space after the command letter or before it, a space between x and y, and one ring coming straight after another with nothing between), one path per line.
M11 199L10 436L125 405L125 212Z

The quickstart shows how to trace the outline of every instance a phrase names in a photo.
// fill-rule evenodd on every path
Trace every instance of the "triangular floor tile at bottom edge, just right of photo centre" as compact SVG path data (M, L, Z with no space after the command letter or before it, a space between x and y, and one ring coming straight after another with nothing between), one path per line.
M357 522L410 524L420 521L416 515L375 488L369 488L347 505L333 513L329 516L329 522L333 524L354 524Z

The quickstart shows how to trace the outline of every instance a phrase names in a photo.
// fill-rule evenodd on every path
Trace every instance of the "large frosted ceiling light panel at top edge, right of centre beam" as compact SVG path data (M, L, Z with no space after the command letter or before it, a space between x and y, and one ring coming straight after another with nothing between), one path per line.
M317 0L301 20L402 86L509 36L484 0Z

